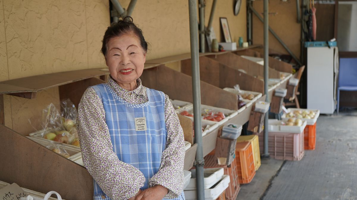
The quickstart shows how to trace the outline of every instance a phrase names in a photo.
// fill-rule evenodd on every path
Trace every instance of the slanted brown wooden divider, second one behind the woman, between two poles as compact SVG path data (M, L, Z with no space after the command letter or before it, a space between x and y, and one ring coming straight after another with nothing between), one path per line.
M181 72L192 74L191 59L181 61ZM260 93L264 88L264 81L208 57L200 57L200 78L219 88L233 88L234 85L239 84L242 90Z

